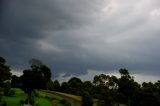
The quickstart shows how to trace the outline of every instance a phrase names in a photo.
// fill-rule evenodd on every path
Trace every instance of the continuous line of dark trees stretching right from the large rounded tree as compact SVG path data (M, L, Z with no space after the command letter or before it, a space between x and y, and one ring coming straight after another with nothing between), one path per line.
M100 74L93 81L84 82L76 77L61 84L55 80L53 90L87 96L90 105L84 106L92 106L93 99L98 100L98 106L160 106L160 80L139 84L127 69L120 69L119 73L120 78Z

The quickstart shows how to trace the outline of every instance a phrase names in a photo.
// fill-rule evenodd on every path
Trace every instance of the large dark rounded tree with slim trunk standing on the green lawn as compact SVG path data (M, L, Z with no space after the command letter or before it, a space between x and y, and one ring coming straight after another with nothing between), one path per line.
M31 69L24 70L20 77L22 89L28 94L29 104L32 101L33 90L46 89L47 83L51 80L51 71L47 66L37 59L32 59L30 63Z

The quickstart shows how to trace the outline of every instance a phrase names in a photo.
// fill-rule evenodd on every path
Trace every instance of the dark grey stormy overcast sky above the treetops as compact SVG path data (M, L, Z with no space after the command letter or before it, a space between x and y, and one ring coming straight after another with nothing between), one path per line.
M160 77L160 0L0 0L0 56L54 77L88 70Z

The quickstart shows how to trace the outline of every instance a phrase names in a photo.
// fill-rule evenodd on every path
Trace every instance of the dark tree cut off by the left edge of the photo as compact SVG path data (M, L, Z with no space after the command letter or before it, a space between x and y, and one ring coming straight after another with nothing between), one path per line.
M6 60L0 57L0 87L3 86L4 81L11 78L11 72L8 65L6 65Z

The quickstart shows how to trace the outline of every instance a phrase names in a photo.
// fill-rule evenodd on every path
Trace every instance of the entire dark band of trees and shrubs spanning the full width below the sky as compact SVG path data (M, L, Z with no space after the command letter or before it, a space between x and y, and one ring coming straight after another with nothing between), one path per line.
M45 104L49 103L47 100L52 101L53 95L52 97L47 96L49 99L46 99L39 96L44 94L35 93L35 89L79 95L82 97L82 106L93 106L95 102L97 106L120 106L120 104L160 106L160 80L155 83L144 82L139 84L125 68L119 70L120 78L100 74L94 76L93 81L83 82L81 79L73 77L60 84L58 80L51 80L51 70L42 62L32 59L30 63L31 67L24 70L23 75L18 77L11 74L5 59L0 57L0 106L5 106L4 100L7 104L10 104L10 101L18 100L22 103L35 105L35 97L44 101ZM15 89L11 88L21 88L26 95L23 94L22 96L22 93L17 93ZM15 94L21 95L21 100L18 97L14 98ZM24 100L22 100L23 98ZM66 101L62 100L61 102L64 106L70 105ZM43 103L41 102L39 105L41 106ZM16 102L16 104L18 103Z

